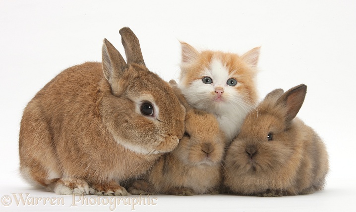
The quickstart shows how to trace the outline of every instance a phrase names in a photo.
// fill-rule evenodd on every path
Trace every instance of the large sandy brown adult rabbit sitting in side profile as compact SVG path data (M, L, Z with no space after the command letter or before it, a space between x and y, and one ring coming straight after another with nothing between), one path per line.
M185 108L146 68L133 32L119 33L127 64L105 39L102 63L62 71L26 106L19 137L26 180L57 194L127 195L123 181L177 147Z

